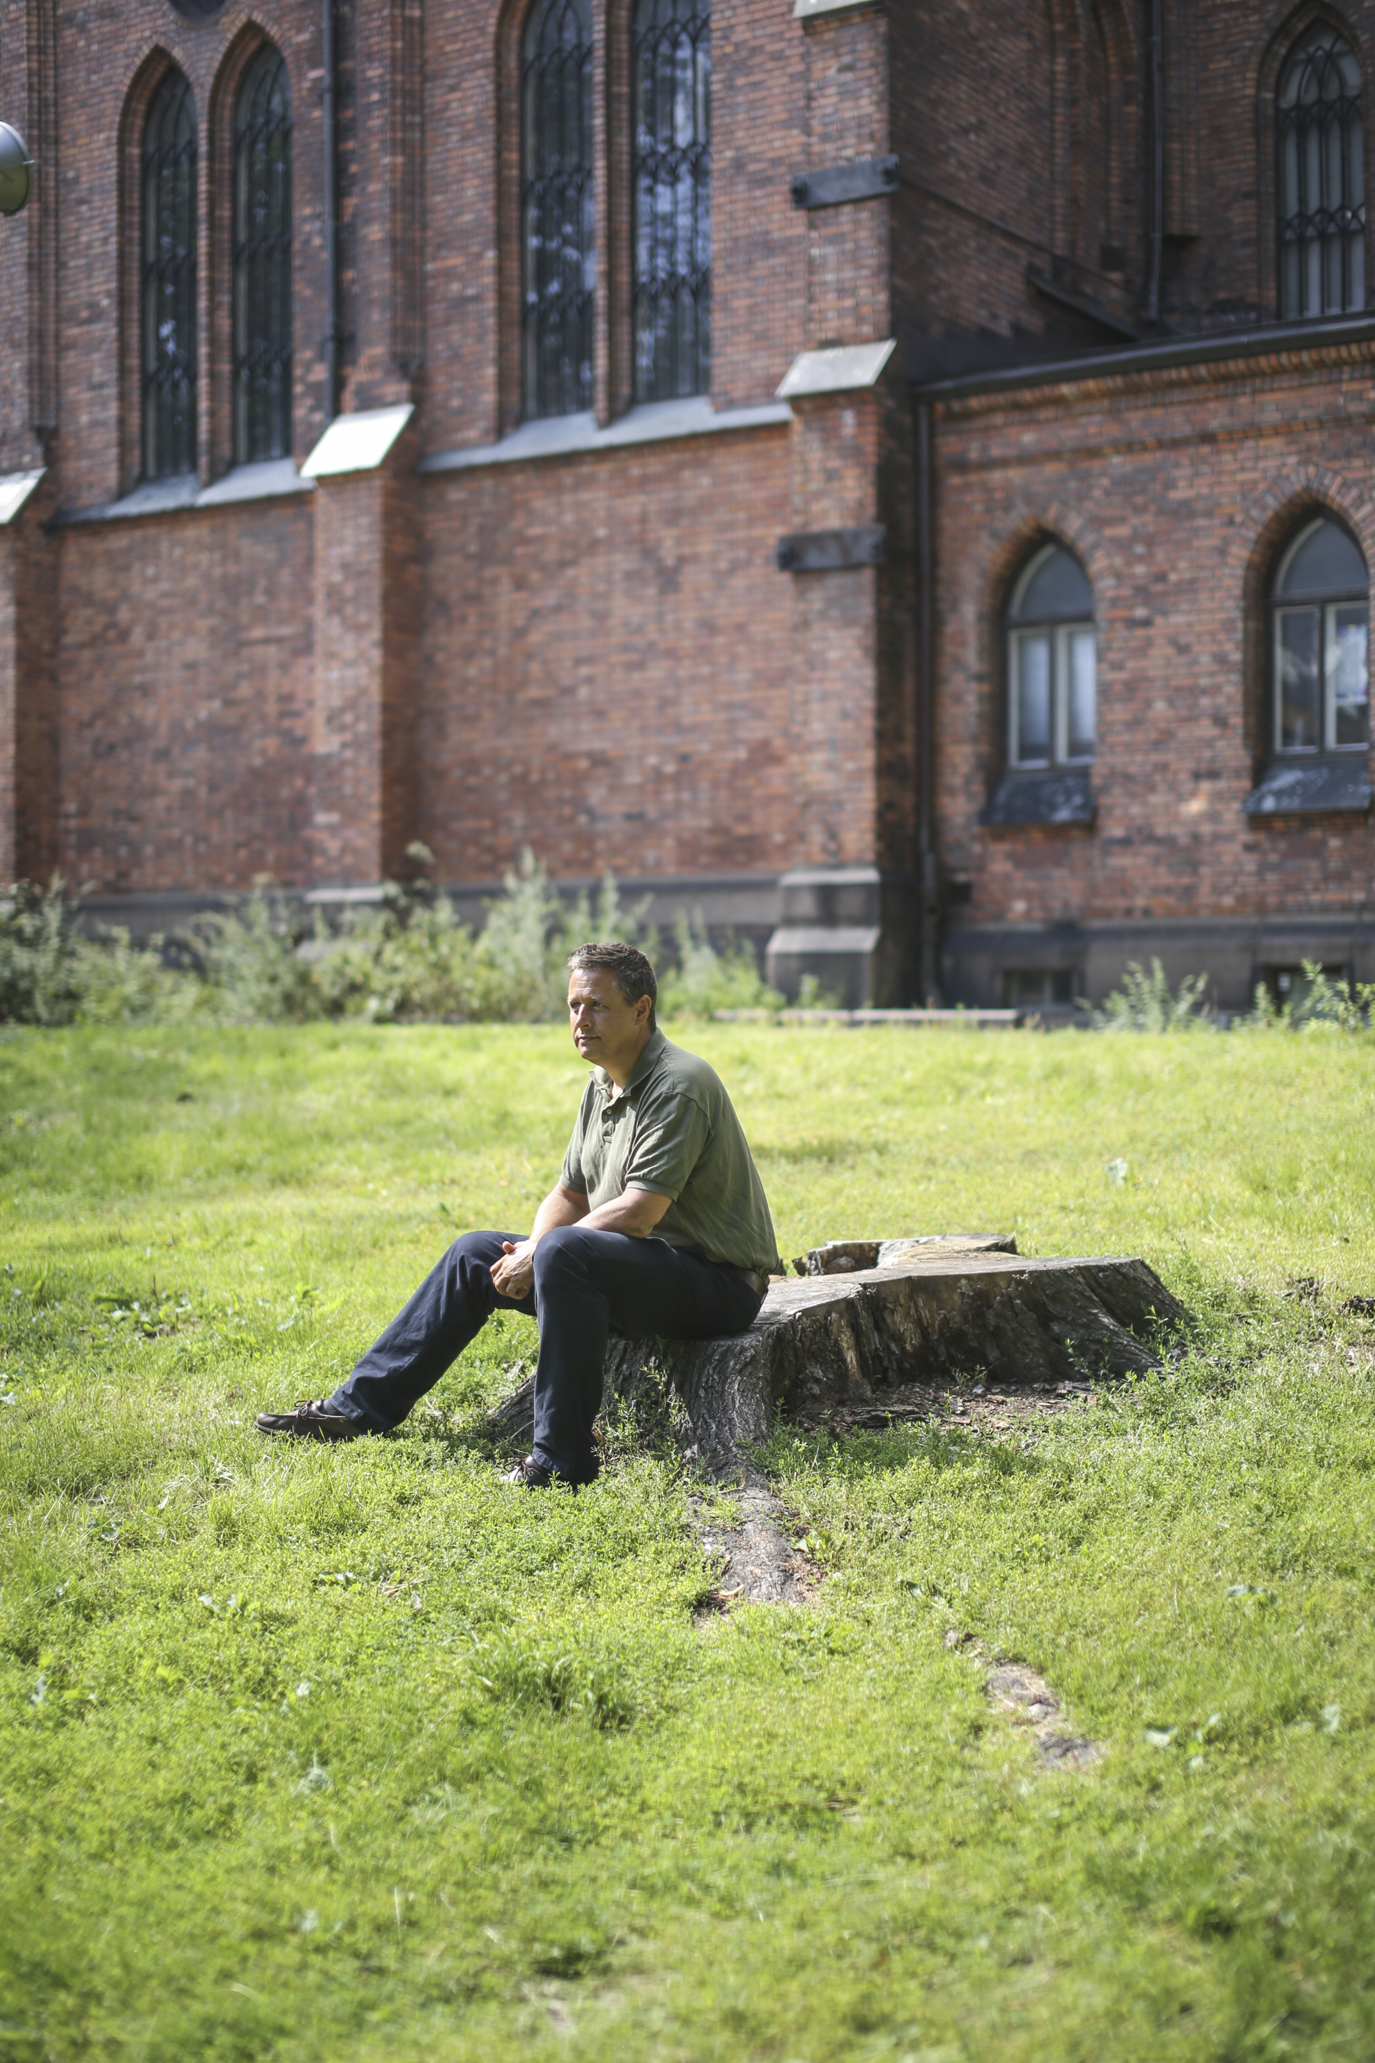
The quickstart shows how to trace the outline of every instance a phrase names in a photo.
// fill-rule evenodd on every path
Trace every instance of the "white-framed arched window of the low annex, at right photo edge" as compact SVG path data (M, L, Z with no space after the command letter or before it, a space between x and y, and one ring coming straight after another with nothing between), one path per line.
M1319 516L1274 580L1274 749L1367 751L1369 576L1354 538Z

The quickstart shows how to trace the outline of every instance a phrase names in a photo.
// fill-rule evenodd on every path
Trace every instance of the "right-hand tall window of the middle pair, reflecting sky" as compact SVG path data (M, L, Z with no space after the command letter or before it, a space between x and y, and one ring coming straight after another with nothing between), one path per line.
M639 0L635 76L635 398L711 384L711 8Z

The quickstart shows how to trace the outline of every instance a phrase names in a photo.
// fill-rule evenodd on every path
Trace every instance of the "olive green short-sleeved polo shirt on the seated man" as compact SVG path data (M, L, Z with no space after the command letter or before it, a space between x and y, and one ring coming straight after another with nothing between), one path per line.
M662 1032L649 1036L621 1093L606 1069L592 1069L559 1180L594 1211L627 1188L672 1197L656 1240L701 1246L707 1260L759 1275L781 1267L765 1188L722 1077Z

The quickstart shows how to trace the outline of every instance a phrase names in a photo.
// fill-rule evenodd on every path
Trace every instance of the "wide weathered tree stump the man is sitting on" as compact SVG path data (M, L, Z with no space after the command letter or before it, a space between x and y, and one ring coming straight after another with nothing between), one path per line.
M612 1337L606 1390L662 1405L670 1384L686 1456L732 1471L779 1409L812 1417L872 1405L905 1382L1066 1382L1159 1368L1154 1341L1187 1312L1144 1260L1033 1260L1010 1244L994 1234L831 1242L814 1254L845 1258L847 1271L773 1283L736 1339ZM919 1258L856 1267L870 1248ZM528 1436L532 1393L534 1380L509 1397L493 1430Z

